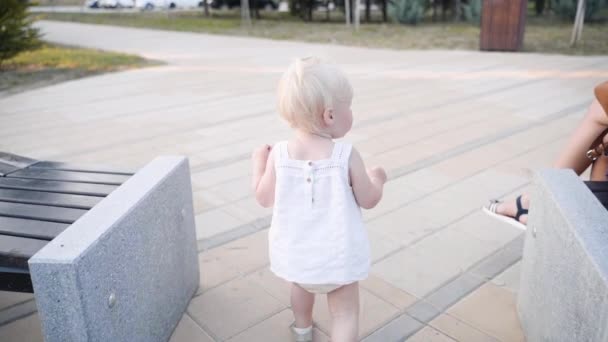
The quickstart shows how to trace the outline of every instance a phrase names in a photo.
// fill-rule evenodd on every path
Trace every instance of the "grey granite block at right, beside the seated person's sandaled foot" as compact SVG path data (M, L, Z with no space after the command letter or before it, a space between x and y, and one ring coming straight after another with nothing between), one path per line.
M535 185L517 302L526 338L608 341L608 212L570 170Z

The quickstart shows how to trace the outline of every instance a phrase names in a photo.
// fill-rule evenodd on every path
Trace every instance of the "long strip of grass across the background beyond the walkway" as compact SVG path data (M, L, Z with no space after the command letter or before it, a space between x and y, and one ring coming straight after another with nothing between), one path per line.
M254 36L280 40L297 40L389 49L466 49L479 48L479 27L468 23L431 23L417 26L393 23L363 24L358 32L347 28L341 14L315 13L313 23L302 22L286 13L264 12L250 28L241 27L237 10L214 11L205 17L202 11L142 13L45 13L47 20L73 21L104 25L145 27L162 30L205 32L237 36ZM377 15L377 14L376 14ZM524 51L569 55L608 54L608 23L586 23L583 40L569 46L572 23L552 17L529 17L524 38Z

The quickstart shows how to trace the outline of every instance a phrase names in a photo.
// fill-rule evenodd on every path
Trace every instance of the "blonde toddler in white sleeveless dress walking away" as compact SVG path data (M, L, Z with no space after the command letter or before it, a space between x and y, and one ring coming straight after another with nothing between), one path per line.
M361 209L376 206L386 173L367 170L342 138L351 129L352 87L317 58L297 59L278 87L278 109L293 128L289 141L253 152L253 190L273 207L270 269L290 282L295 341L312 341L315 294L327 294L333 342L359 330L359 286L370 268Z

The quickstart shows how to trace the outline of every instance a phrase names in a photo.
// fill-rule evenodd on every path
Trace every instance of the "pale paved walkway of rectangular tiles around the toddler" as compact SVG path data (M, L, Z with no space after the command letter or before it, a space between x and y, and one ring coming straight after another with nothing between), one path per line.
M356 122L347 139L390 178L382 203L365 212L373 267L362 283L361 338L523 340L515 312L523 234L479 207L525 189L528 169L550 166L593 85L608 79L608 57L40 26L56 43L168 63L1 99L0 150L134 168L159 154L190 157L201 286L172 342L288 340L288 288L268 271L270 211L249 191L249 156L289 136L274 92L289 61L305 55L350 75ZM0 293L0 336L41 341L33 304ZM315 320L317 341L326 341L325 298Z

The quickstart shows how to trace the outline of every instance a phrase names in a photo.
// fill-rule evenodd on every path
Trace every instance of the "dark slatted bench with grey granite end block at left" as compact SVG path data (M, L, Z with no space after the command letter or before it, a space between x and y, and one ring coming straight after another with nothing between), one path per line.
M199 282L187 159L0 157L2 289L34 292L45 341L167 341Z

